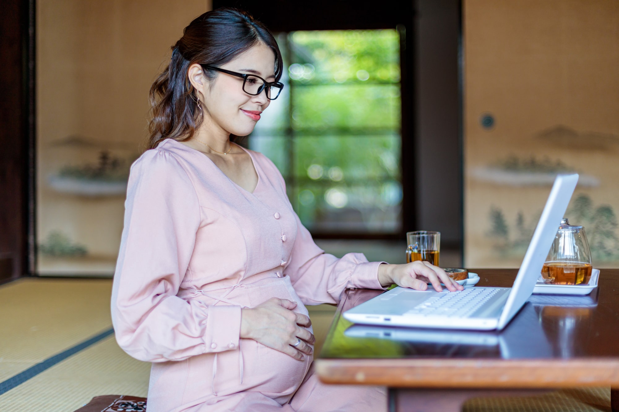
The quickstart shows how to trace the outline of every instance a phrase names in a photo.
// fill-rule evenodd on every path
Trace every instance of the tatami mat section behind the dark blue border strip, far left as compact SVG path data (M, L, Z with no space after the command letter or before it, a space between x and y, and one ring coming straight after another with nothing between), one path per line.
M27 369L110 328L111 285L111 279L24 278L0 286L0 375L5 363Z

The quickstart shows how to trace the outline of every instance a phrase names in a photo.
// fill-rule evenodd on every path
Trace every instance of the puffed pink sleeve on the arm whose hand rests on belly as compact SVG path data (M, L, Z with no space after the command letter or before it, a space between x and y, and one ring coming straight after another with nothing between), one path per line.
M200 213L194 186L173 155L147 150L132 165L111 314L118 345L136 359L174 361L238 348L240 306L176 296Z

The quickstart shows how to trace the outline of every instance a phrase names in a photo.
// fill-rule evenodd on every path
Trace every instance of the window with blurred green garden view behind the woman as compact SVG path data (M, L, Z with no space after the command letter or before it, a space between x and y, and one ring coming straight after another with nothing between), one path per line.
M280 33L286 85L249 137L314 236L402 231L397 30Z

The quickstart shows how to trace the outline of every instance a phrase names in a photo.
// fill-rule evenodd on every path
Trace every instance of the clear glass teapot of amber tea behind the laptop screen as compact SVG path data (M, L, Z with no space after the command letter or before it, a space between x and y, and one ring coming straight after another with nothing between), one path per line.
M567 218L561 219L540 280L555 285L578 285L589 283L591 271L591 251L584 227L572 226Z

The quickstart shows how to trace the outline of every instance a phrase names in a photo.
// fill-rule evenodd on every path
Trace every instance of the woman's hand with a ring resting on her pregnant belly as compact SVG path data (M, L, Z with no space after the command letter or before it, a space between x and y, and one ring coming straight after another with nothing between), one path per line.
M302 361L303 353L311 354L316 338L309 330L311 320L293 312L297 304L288 299L271 298L253 308L241 310L241 338L253 339L274 350ZM300 341L297 346L295 345Z

